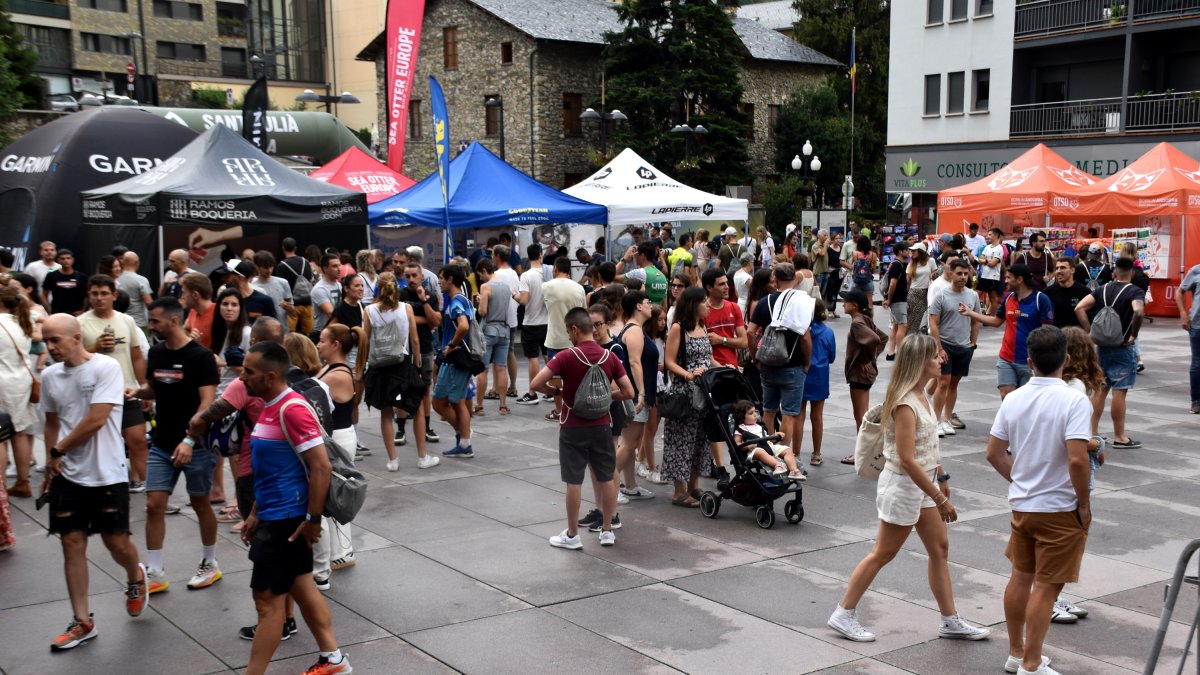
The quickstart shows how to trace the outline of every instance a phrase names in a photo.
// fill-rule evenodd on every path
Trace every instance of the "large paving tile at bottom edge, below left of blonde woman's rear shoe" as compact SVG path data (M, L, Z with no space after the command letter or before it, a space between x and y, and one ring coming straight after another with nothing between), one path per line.
M839 646L662 585L547 610L685 673L808 673L856 658Z

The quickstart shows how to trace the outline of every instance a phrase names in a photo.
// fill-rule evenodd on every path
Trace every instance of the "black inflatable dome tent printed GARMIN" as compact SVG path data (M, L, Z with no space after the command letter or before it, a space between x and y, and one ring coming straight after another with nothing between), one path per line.
M103 106L46 124L0 151L0 246L13 250L17 269L37 259L37 245L72 249L80 269L116 243L139 255L150 273L154 231L83 228L70 196L137 175L196 139L194 131L158 115ZM92 255L94 253L94 255Z

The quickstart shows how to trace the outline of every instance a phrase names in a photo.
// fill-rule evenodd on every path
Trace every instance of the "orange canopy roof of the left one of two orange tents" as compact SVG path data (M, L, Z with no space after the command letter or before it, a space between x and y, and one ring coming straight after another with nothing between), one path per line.
M1078 198L1096 181L1096 177L1038 143L986 178L938 192L938 220L944 216L946 222L953 222L952 216L976 214L1049 214L1057 203Z

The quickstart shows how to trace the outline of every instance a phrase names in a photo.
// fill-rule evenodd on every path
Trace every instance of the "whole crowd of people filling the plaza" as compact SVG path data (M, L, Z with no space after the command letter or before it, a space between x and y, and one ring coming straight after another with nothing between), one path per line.
M1093 243L1084 259L1056 257L1044 234L1021 250L998 229L980 237L972 226L968 234L899 240L894 259L883 263L870 237L844 240L822 229L800 246L794 226L780 246L766 228L676 238L661 223L631 235L614 259L599 244L576 256L587 262L582 276L562 252L544 261L540 244L516 251L508 237L436 273L419 246L352 256L311 245L301 255L284 239L278 258L228 249L210 274L191 269L187 251L172 251L157 286L138 273L133 251L114 250L89 275L76 269L70 250L42 243L40 259L0 285L7 334L0 411L13 431L0 464L11 446L16 479L7 490L0 484L0 549L14 544L7 501L35 495L36 467L50 531L62 542L73 610L52 647L97 635L88 608L89 534L100 533L126 569L131 616L168 590L166 515L180 508L169 497L182 476L202 549L187 587L221 580L218 527L229 525L250 545L258 621L239 631L253 640L247 673L262 673L278 641L296 632L294 603L320 645L308 673L349 673L319 593L334 572L356 562L350 524L324 516L325 444L356 460L372 455L356 430L364 402L380 413L388 471L412 461L398 450L409 438L419 470L475 456L472 420L490 414L487 401L497 401L498 416L511 413L509 404L547 405L542 417L559 426L566 484L566 527L550 544L582 549L587 528L608 546L622 526L618 508L655 497L646 484L670 485L671 504L698 508L700 478L728 478L726 448L710 441L698 408L664 407L695 400L709 369L737 369L762 402L739 402L727 420L739 443L760 441L746 460L782 480L806 480L805 441L806 465L824 461L823 411L839 352L828 322L846 318L844 390L856 428L868 413L878 359L894 365L882 407L880 533L830 627L852 640L874 639L856 605L916 527L943 615L940 635L988 635L954 607L946 522L956 512L938 448L965 428L955 405L980 331L1002 328L995 362L1002 404L988 456L1012 483L1014 509L1006 670L1054 673L1039 651L1045 626L1086 615L1060 591L1078 579L1091 472L1105 446L1140 447L1124 419L1144 369L1139 331L1148 279L1136 250L1121 249L1109 263ZM1190 335L1193 413L1200 413L1196 294L1200 265L1175 295ZM528 360L523 393L517 344ZM1110 394L1106 440L1098 428ZM442 441L434 412L454 435L440 453L430 449ZM47 448L41 467L35 435ZM581 516L588 470L596 508ZM130 536L131 492L146 494L140 552ZM1050 538L1070 545L1048 558L1040 544Z

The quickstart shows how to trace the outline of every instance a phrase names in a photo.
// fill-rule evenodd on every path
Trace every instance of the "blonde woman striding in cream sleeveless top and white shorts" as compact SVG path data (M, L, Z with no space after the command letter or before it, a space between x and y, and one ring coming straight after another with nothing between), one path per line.
M858 643L875 640L875 634L858 621L858 601L883 566L896 556L913 527L929 556L929 587L942 614L938 637L982 640L990 632L967 623L954 608L946 524L959 515L950 503L950 477L940 464L937 416L925 394L925 386L942 371L937 353L937 341L929 335L905 338L896 351L883 399L880 425L887 462L875 490L880 531L875 546L850 575L846 593L829 617L830 628Z

